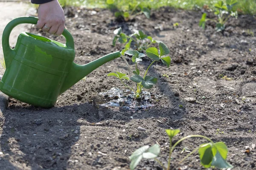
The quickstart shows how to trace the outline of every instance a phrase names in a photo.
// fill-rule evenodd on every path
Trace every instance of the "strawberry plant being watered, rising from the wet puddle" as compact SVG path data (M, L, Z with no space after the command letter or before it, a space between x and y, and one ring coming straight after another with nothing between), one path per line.
M160 53L158 52L158 49L155 47L150 47L146 49L146 54L147 56L152 59L153 61L151 62L151 64L148 66L147 70L145 71L144 76L140 76L140 70L137 67L137 63L142 61L143 57L146 57L146 54L140 53L139 51L136 50L128 50L125 51L124 54L127 54L131 57L132 62L135 63L135 70L133 71L133 76L132 77L128 77L126 74L123 74L121 72L116 71L116 73L110 73L108 74L108 76L115 76L117 78L119 78L119 80L122 82L122 84L130 89L131 91L134 91L134 94L136 96L136 98L140 98L140 95L142 93L143 88L149 89L152 88L153 85L157 84L157 78L156 77L151 77L151 76L147 76L148 70L151 67L151 65L154 62L157 61L162 61L163 64L165 64L168 68L171 64L171 58L169 56L164 57L165 55L170 53L169 48L163 43L163 42L159 42L159 49L160 49ZM123 80L132 80L134 82L136 82L136 87L132 88L128 85L126 85Z

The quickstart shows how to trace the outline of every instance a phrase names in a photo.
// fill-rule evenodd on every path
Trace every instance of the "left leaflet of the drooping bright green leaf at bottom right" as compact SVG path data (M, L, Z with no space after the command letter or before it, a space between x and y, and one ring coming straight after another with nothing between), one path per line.
M199 146L198 153L200 156L201 164L206 168L211 167L211 162L212 162L212 158L213 158L212 144L211 143L201 144Z

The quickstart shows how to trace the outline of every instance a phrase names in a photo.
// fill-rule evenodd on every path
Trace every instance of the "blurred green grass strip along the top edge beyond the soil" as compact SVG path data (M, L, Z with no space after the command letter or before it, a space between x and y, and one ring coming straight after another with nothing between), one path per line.
M172 6L174 8L195 9L208 5L214 6L218 0L119 0L128 6L129 3L140 2L143 6L149 8L160 8L161 6ZM85 6L88 8L107 8L106 0L59 0L62 6ZM238 0L237 8L244 14L256 14L256 0Z

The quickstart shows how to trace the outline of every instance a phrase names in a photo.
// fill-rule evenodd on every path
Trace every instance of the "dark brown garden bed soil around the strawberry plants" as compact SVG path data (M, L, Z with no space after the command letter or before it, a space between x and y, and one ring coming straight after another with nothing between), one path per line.
M149 109L99 106L110 100L100 92L113 87L124 89L119 81L106 76L114 70L128 73L121 58L67 90L54 108L37 108L10 99L7 111L0 115L0 170L128 170L131 153L155 143L161 145L160 160L166 165L169 139L165 129L169 128L180 129L175 140L201 134L214 142L223 141L229 148L227 161L235 170L255 168L256 38L250 34L256 34L255 18L231 19L226 31L217 33L212 23L205 31L198 27L201 11L161 8L153 11L149 20L141 15L122 23L108 10L94 9L96 14L89 9L65 10L66 26L75 40L76 63L85 64L121 50L120 44L111 46L113 30L121 26L126 34L142 30L163 41L171 50L172 64L167 69L157 63L149 70L151 76L159 78L148 90L153 105ZM179 26L174 28L176 22ZM35 28L31 31L38 33ZM149 63L141 62L140 70ZM187 97L197 102L187 102ZM138 127L146 131L138 131ZM198 154L178 164L185 156L181 153L184 147L192 151L204 142L182 142L172 155L172 167L204 169ZM153 160L143 160L137 169L161 170Z

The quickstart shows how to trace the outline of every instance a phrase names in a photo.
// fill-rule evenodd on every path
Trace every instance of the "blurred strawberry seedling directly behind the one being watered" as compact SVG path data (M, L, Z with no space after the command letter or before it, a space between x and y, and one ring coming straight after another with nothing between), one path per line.
M156 40L153 40L152 37L143 33L143 31L138 31L138 33L134 33L131 36L128 36L122 33L122 28L117 28L114 31L116 35L113 39L112 45L116 45L116 41L125 44L124 49L121 51L121 54L124 55L125 51L129 50L131 47L131 42L135 43L135 50L142 52L146 48L148 48L151 44L157 43Z

